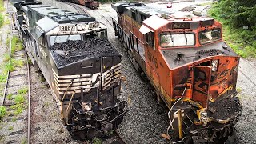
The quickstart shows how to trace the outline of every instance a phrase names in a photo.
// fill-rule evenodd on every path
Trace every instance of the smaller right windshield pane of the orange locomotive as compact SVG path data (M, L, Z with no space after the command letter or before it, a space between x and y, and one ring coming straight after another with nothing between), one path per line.
M205 44L208 42L214 42L221 38L221 30L206 30L199 33L199 42L200 44Z

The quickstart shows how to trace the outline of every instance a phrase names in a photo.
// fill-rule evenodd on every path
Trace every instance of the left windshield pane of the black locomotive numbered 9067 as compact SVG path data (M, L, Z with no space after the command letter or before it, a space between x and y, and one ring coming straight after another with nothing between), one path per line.
M81 35L75 34L75 35L50 36L50 46L53 46L54 43L62 43L62 42L66 42L68 40L81 40Z

